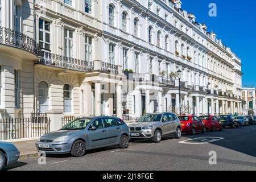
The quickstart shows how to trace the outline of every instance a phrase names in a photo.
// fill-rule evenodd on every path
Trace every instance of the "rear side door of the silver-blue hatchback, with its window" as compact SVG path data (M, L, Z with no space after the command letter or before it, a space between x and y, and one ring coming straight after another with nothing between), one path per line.
M119 136L122 133L121 126L118 126L118 123L114 118L104 118L104 119L109 132L108 143L110 145L119 143Z

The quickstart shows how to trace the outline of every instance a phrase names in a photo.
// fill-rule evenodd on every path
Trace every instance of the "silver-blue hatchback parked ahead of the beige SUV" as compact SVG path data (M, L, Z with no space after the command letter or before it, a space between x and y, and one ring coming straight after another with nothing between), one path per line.
M129 146L129 127L116 117L86 117L75 119L58 131L36 142L38 151L46 154L83 156L86 150L106 146Z

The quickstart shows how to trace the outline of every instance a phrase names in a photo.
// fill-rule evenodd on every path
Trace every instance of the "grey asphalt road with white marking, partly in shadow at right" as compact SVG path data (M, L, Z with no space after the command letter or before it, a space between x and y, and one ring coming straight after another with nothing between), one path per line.
M218 137L219 140L207 143L212 139L209 137ZM183 142L188 139L194 140ZM38 158L22 159L6 170L256 170L255 143L256 126L246 126L194 137L183 135L181 139L166 138L161 143L130 142L125 150L106 147L88 151L81 158L55 155L46 158L46 165L39 165ZM210 151L217 154L216 165L209 164Z

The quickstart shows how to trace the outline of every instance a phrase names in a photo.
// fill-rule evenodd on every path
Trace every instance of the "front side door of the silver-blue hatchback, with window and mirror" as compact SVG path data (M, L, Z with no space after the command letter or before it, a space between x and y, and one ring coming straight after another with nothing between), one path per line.
M96 130L90 130L93 126L96 127ZM102 147L108 145L108 128L105 126L105 123L102 118L98 118L92 122L92 125L89 127L88 132L89 138L89 147Z

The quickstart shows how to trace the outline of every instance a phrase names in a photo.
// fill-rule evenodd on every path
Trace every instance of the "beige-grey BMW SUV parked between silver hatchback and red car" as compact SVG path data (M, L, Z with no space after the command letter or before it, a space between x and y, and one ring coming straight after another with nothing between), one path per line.
M164 135L181 137L180 120L173 113L145 114L129 128L131 139L152 139L159 143Z

